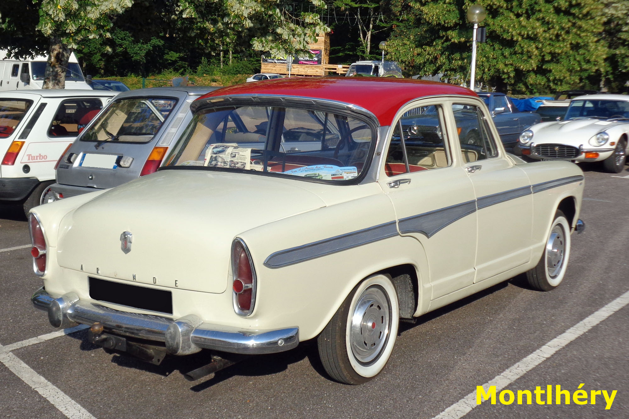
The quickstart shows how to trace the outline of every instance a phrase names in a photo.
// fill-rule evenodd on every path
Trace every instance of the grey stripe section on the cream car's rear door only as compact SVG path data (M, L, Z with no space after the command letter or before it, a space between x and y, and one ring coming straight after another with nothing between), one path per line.
M474 213L474 211L476 211L476 201L467 201L447 206L440 210L401 218L399 220L399 231L401 233L422 233L430 238L445 226Z

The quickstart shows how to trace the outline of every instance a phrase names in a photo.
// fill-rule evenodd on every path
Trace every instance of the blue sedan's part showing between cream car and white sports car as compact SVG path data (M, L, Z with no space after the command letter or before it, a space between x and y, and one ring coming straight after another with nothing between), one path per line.
M500 139L504 147L509 150L517 145L520 133L531 125L540 123L542 117L533 112L520 112L511 99L504 93L479 93L478 96L485 102L491 118L498 128Z

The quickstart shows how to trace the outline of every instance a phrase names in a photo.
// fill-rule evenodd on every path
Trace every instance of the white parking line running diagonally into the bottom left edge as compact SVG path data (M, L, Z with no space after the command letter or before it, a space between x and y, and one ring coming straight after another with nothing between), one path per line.
M13 374L31 386L37 393L42 394L61 413L69 418L94 418L89 411L67 396L63 391L53 386L50 381L40 376L31 367L15 355L4 350L0 345L0 362L4 364Z

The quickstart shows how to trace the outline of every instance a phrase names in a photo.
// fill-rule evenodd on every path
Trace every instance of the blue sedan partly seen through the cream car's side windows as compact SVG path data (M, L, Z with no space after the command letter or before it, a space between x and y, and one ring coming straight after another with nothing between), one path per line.
M511 150L516 145L522 131L541 121L540 115L537 113L518 111L504 93L481 93L479 97L489 108L494 124L498 128L500 139L507 150ZM481 147L481 133L477 132L478 113L470 112L464 105L455 106L458 106L458 108L453 108L453 111L457 123L457 134L461 142ZM399 136L401 128L404 138L440 142L442 133L439 132L437 124L437 111L434 106L427 106L422 109L423 113L421 114L416 113L415 109L407 112L399 121L401 126L396 127L396 135Z

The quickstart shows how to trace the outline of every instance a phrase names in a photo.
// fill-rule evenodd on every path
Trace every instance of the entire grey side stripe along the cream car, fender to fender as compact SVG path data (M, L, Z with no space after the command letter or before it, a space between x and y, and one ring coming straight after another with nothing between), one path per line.
M509 201L510 199L520 198L521 196L526 196L531 193L546 191L547 189L574 182L581 182L583 179L583 176L563 177L562 179L542 182L533 186L523 186L511 189L510 191L481 196L481 198L474 201L467 201L440 208L439 210L401 218L398 224L399 231L403 234L421 233L430 238L446 226L482 208ZM279 250L279 252L270 254L264 261L264 265L272 269L294 265L299 262L342 252L343 250L377 242L378 240L384 240L385 238L394 237L396 235L398 235L396 221L389 221L388 223L364 228L363 230L325 238L318 242L306 243L301 246L292 247L291 249Z

